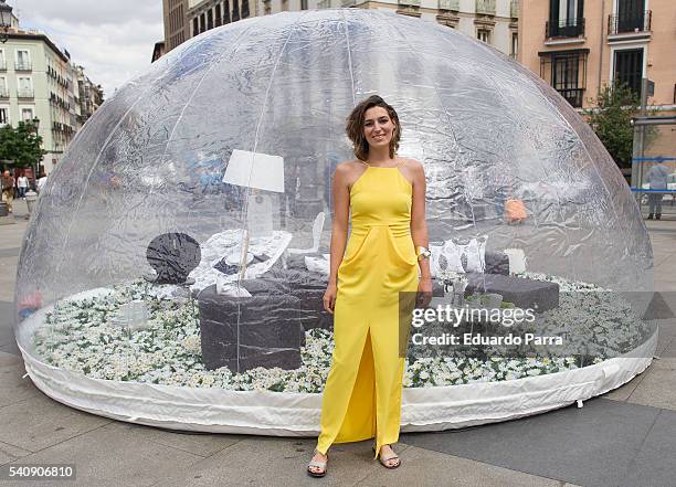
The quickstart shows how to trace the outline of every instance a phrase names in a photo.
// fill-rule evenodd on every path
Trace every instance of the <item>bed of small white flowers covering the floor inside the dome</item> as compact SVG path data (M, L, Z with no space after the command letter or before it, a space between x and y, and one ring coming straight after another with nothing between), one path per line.
M589 343L602 343L604 350L619 352L626 351L627 343L638 345L646 335L641 322L627 313L629 305L610 294L584 293L603 290L596 286L543 274L524 275L561 286L561 306L551 311L548 331L584 334ZM117 286L108 295L62 300L35 332L35 353L49 364L97 379L235 391L321 392L330 368L331 332L323 329L306 332L306 346L300 351L303 366L295 370L256 368L243 373L232 373L225 367L207 370L200 357L197 303L172 300L171 290L172 286L149 286L137 280ZM569 292L578 293L564 295ZM567 301L571 296L589 303L578 301L573 309ZM130 331L113 324L119 306L131 299L146 300L147 329ZM606 334L610 327L613 332ZM594 347L587 352L585 364L608 358ZM577 369L579 364L572 354L487 360L434 357L418 358L413 363L406 359L403 384L425 388L515 380Z

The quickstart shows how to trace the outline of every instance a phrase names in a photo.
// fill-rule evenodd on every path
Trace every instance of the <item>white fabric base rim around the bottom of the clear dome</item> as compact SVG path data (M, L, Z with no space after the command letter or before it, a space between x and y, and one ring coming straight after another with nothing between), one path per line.
M92 295L86 293L85 295ZM43 308L22 331L43 326ZM652 362L655 329L622 356L562 372L496 382L404 388L401 431L443 431L543 413L603 394ZM30 341L30 337L24 337ZM23 340L20 340L20 343ZM23 342L28 342L23 341ZM211 433L315 436L321 393L232 391L96 379L45 363L19 346L34 384L54 400L92 414L150 426Z

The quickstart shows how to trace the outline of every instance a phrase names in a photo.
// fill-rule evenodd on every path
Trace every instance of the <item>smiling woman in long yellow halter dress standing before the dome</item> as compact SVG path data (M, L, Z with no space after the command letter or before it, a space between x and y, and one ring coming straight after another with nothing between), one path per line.
M397 156L397 112L380 96L370 96L353 108L346 130L357 159L339 163L332 182L324 307L334 314L335 348L321 433L307 468L314 477L326 474L332 443L374 437L376 458L387 468L400 465L391 447L399 440L405 356L399 303L418 294L424 306L432 294L425 174L419 161Z

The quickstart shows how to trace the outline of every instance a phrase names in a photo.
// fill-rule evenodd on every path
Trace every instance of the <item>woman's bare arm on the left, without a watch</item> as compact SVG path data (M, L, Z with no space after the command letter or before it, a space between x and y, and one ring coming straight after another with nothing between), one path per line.
M331 245L330 245L330 268L326 293L324 295L324 308L334 313L336 294L338 289L338 267L342 262L345 247L347 245L347 230L350 213L350 192L349 179L350 171L348 165L339 163L336 167L331 183L334 197L332 223L331 223Z

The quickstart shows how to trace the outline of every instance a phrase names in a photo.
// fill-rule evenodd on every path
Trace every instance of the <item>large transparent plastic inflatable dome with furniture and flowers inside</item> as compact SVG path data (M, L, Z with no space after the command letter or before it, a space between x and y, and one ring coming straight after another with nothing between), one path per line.
M398 110L399 155L425 168L435 299L464 283L464 298L540 305L587 338L620 330L591 340L611 354L590 340L557 357L412 352L404 431L546 411L648 366L655 336L617 297L605 315L571 311L583 292L649 289L653 267L636 203L574 109L455 30L346 9L205 32L77 134L19 265L15 332L38 387L145 424L316 433L331 177L353 158L346 117L371 94Z

